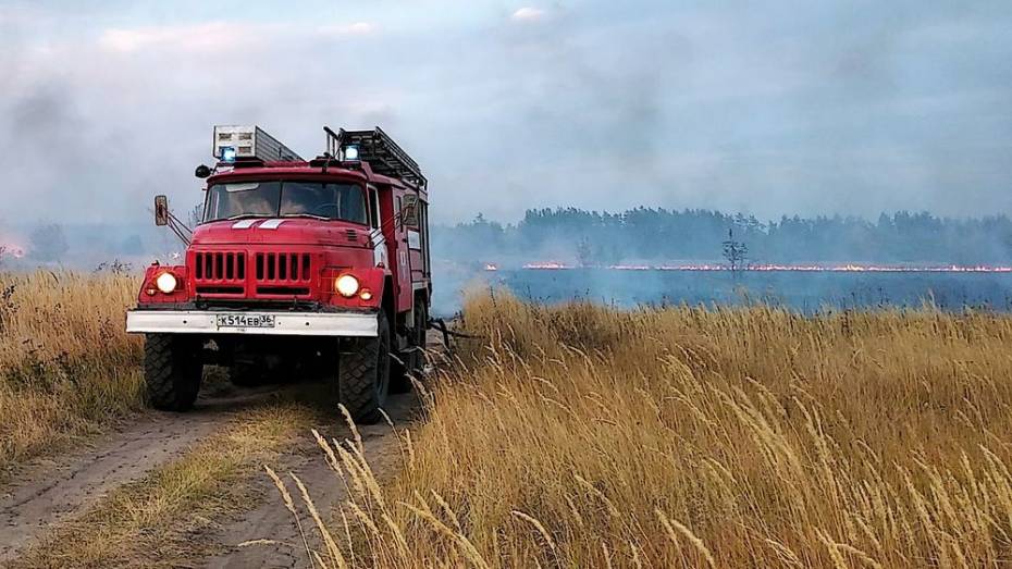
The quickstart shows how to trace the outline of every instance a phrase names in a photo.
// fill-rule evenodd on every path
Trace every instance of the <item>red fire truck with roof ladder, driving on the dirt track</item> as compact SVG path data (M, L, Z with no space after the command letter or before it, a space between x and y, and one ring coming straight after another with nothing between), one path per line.
M205 364L247 384L319 374L361 422L424 363L432 295L428 182L390 136L324 127L303 160L257 126L217 126L203 215L190 232L156 198L156 223L188 245L149 267L126 318L145 334L151 404L189 409Z

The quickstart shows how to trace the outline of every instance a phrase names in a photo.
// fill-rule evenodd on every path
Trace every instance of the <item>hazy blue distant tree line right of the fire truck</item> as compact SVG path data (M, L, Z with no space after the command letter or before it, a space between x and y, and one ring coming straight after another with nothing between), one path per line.
M729 233L752 263L880 262L998 264L1012 262L1012 220L927 212L855 217L755 217L712 210L637 208L597 212L577 208L528 210L503 224L479 214L433 227L436 257L459 261L502 257L569 259L588 263L634 260L720 260Z

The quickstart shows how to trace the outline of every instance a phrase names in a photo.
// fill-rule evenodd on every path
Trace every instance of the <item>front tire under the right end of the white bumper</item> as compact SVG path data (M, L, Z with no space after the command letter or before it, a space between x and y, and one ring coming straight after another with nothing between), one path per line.
M337 361L337 398L357 423L373 424L390 391L390 323L377 314L374 338L343 339Z

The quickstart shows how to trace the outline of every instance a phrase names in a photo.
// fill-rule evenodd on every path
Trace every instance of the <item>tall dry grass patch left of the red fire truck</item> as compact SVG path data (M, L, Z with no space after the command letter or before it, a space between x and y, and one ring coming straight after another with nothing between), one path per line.
M137 281L0 274L0 470L140 407Z

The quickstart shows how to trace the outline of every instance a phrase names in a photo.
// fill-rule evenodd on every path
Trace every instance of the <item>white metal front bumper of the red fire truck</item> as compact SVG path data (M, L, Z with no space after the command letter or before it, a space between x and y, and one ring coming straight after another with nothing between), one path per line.
M280 312L256 311L274 317L273 327L219 326L225 310L129 310L126 332L131 334L256 334L264 336L348 336L375 337L377 317L369 312Z

